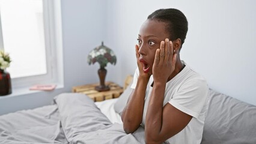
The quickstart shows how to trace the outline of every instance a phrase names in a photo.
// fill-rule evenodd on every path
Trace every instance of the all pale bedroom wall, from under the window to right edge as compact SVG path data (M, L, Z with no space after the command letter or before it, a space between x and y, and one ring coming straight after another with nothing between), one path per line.
M123 85L136 68L135 44L147 16L159 8L178 8L189 22L181 58L201 73L210 88L256 105L256 1L62 0L64 88L0 99L0 115L50 104L72 86L99 82L98 64L87 55L101 44L117 55L106 67L106 81Z

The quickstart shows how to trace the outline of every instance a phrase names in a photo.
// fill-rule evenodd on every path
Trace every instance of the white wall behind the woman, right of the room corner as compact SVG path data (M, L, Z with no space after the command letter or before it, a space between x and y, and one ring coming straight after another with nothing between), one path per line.
M115 67L118 79L136 68L134 45L148 14L178 8L189 22L181 59L206 77L210 88L256 105L255 5L253 0L108 0L106 41L120 57Z

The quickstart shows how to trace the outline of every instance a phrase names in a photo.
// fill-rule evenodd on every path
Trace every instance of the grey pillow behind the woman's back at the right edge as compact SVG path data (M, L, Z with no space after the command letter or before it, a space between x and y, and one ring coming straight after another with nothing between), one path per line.
M209 91L202 144L256 143L256 106Z

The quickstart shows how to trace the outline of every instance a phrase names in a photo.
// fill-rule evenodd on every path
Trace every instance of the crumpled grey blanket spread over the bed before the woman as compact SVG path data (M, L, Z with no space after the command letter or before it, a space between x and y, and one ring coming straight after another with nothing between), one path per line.
M83 94L61 94L54 101L0 116L0 143L145 143L144 128L126 134Z

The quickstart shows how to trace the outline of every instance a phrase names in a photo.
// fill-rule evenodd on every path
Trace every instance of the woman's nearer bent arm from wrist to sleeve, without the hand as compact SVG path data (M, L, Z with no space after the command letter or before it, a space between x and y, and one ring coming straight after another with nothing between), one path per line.
M145 140L147 143L162 143L183 130L192 116L181 112L169 103L163 107L163 94L160 89L165 87L156 83L154 87L148 104Z

